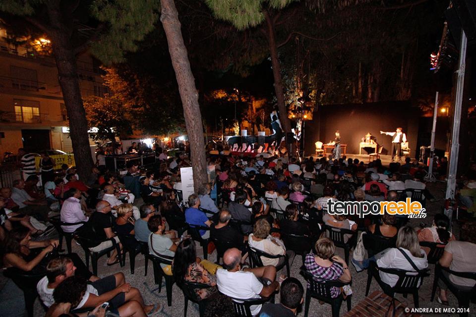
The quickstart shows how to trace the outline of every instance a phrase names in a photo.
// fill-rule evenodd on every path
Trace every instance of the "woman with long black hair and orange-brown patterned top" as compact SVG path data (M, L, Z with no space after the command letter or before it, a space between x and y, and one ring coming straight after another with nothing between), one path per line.
M199 300L209 298L218 293L216 276L210 274L205 269L202 265L205 263L211 264L206 260L201 261L200 258L197 258L195 242L192 239L185 239L179 243L172 264L172 272L177 285L183 287L183 282L188 281L212 286L195 289L197 299Z

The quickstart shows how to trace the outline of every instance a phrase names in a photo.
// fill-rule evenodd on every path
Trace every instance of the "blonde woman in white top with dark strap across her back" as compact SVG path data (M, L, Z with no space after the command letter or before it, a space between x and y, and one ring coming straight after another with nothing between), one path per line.
M413 228L404 226L398 230L396 248L389 248L375 255L379 267L400 268L408 271L415 271L413 265L403 255L404 252L418 269L428 267L426 253L420 248L418 237ZM394 287L398 281L398 275L380 271L380 278L383 282ZM418 282L418 284L421 281Z

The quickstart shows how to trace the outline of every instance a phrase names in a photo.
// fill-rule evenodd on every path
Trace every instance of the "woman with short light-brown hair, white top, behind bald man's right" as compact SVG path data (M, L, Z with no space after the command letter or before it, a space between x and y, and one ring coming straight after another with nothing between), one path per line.
M253 226L253 233L248 237L248 244L258 250L264 251L268 254L277 256L277 255L288 255L289 265L293 263L294 260L294 251L286 251L283 241L280 239L272 237L269 233L271 231L271 226L269 225L266 219L259 219ZM274 265L279 266L283 264L284 258L279 259L269 259L261 257L263 265Z

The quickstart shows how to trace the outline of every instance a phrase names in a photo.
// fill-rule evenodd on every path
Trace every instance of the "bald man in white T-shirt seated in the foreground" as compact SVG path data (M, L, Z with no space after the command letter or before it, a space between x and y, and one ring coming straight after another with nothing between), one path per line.
M275 281L276 267L267 265L241 270L241 251L237 248L228 249L223 255L223 266L217 270L218 290L232 298L248 299L269 297L279 290ZM259 278L259 279L258 279ZM256 316L261 305L252 305L251 314Z

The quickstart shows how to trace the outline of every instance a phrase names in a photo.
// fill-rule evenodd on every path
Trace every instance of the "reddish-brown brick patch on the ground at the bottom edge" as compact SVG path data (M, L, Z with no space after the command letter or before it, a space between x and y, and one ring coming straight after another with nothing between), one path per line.
M372 294L365 297L357 305L352 304L353 307L350 312L347 312L344 317L360 317L360 316L373 316L373 317L384 317L387 316L387 310L390 306L391 298L380 291L374 291ZM345 302L342 302L342 305L346 305ZM417 317L421 316L416 313L406 313L405 310L408 310L403 303L398 300L395 300L395 317Z

